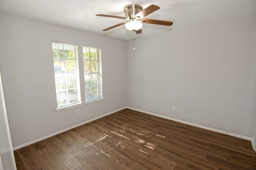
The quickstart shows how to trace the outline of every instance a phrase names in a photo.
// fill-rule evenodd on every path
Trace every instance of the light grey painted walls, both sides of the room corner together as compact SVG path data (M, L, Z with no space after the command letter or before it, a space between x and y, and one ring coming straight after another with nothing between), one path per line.
M13 146L124 106L255 140L255 22L136 39L133 50L132 41L2 14L0 68ZM102 48L104 101L56 112L52 41Z

